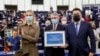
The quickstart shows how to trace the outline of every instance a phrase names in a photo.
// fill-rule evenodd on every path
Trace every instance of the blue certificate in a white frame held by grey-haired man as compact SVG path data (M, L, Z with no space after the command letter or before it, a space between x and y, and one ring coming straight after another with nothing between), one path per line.
M62 46L65 45L65 31L45 31L44 46Z

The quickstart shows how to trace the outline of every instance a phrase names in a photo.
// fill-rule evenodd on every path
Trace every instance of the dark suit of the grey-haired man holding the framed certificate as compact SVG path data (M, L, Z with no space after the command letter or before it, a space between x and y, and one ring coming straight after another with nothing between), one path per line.
M45 31L51 31L53 29L53 25L49 25L45 28ZM56 31L63 31L65 27L61 24L58 24ZM64 56L63 48L53 48L53 47L45 47L45 56Z

